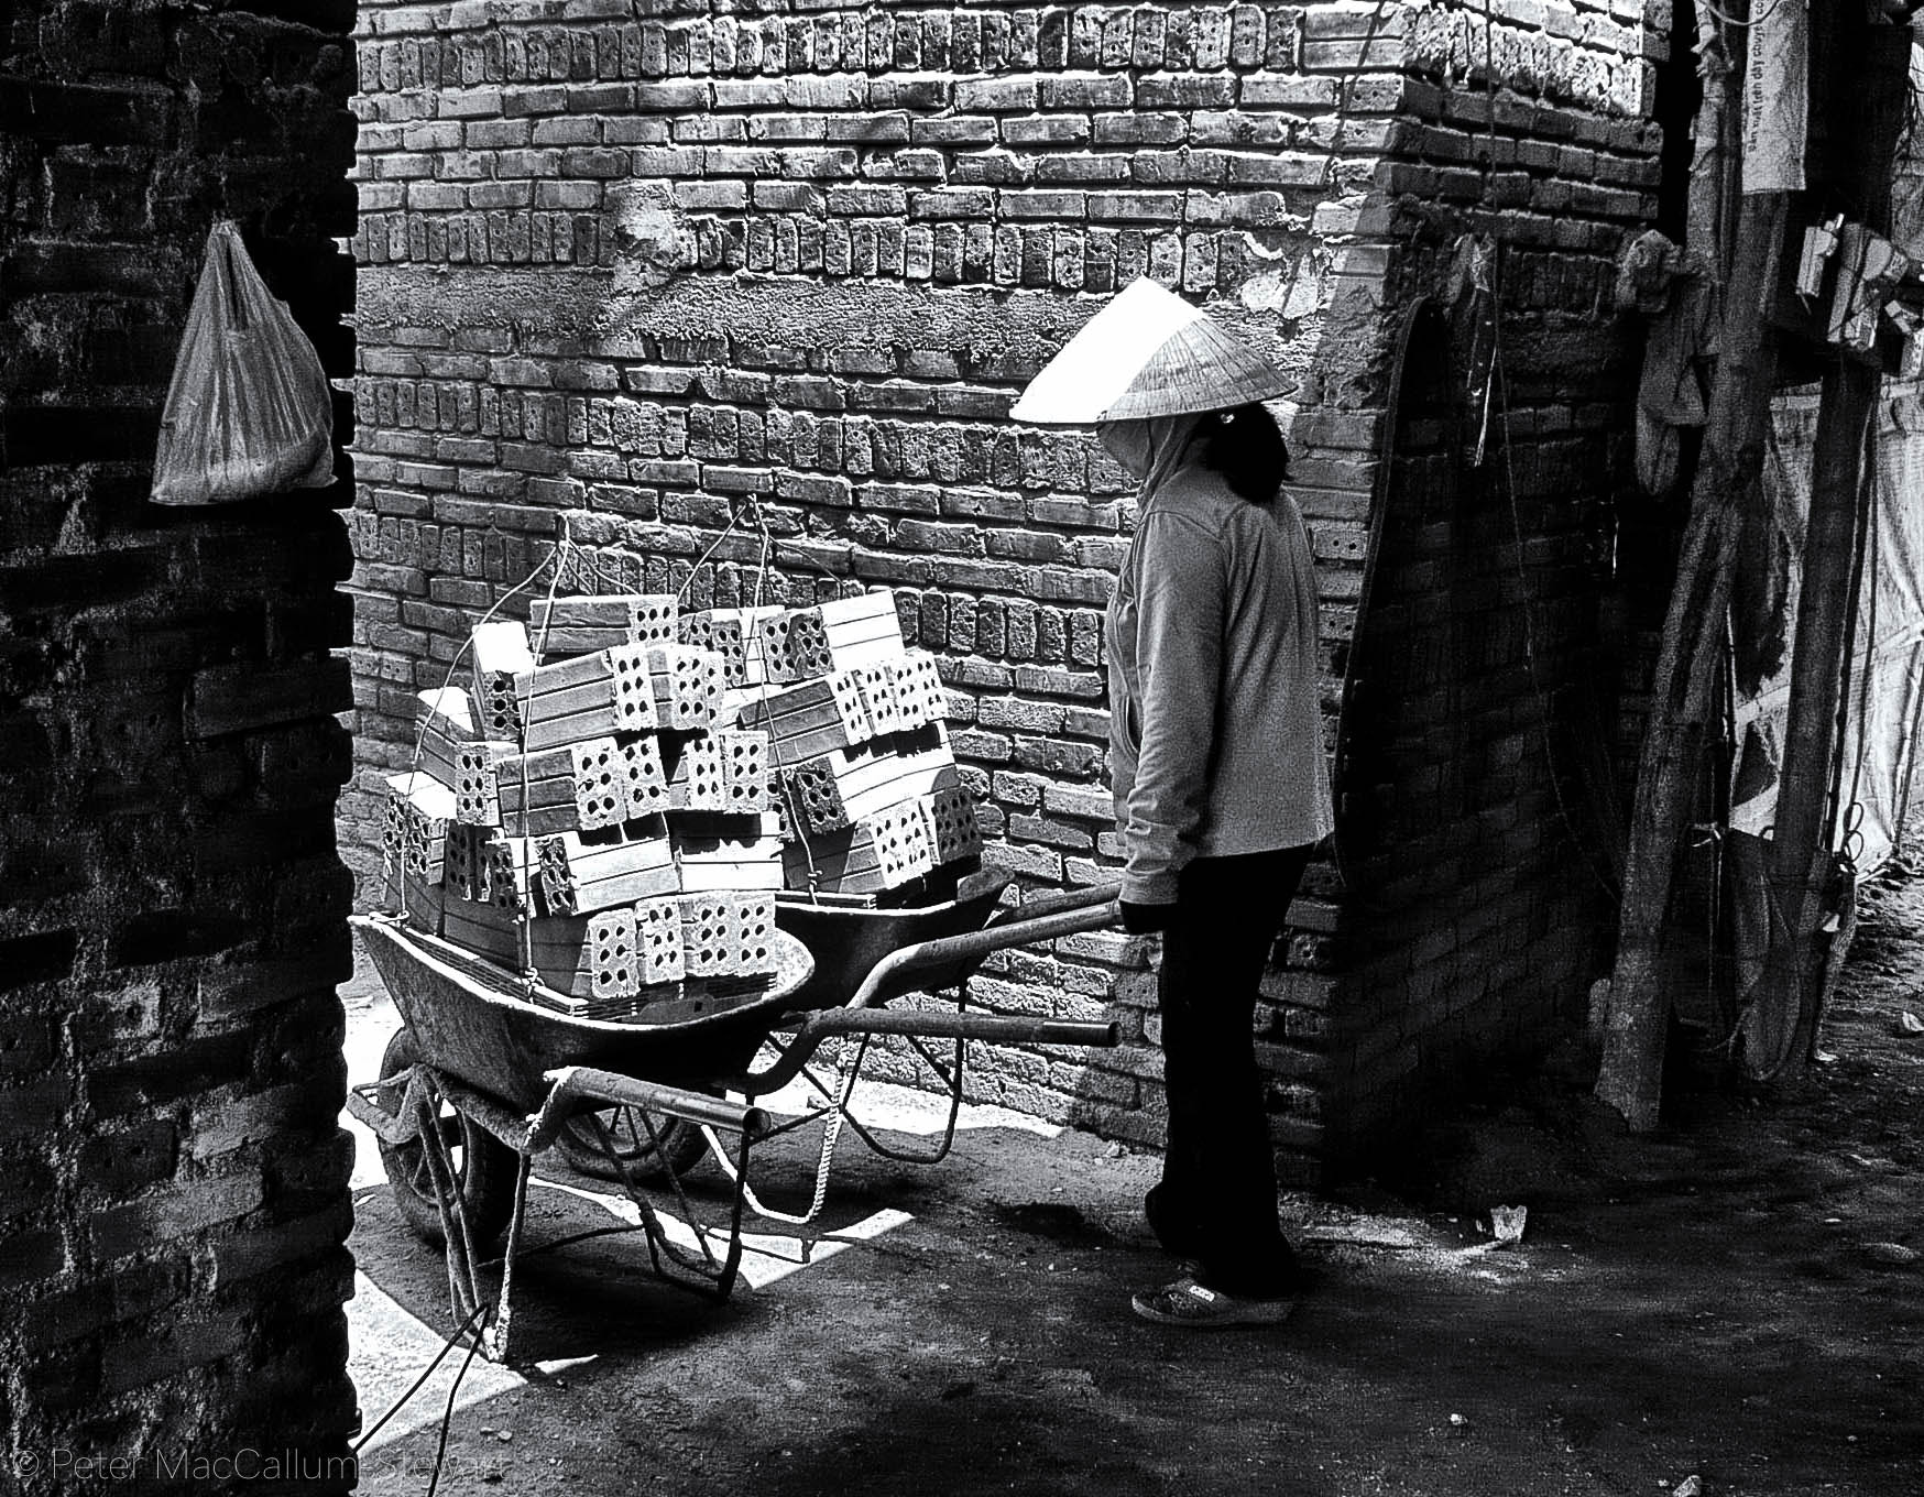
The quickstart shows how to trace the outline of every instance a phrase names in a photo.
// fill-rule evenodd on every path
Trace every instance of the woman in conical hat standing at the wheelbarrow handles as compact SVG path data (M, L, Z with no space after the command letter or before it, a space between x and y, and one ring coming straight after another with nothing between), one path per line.
M1124 926L1162 933L1168 1151L1145 1212L1195 1272L1133 1307L1176 1326L1272 1324L1289 1314L1297 1262L1253 1022L1310 849L1333 825L1316 573L1279 489L1287 450L1258 404L1287 381L1181 298L1139 287L1152 283L1099 314L1014 414L1076 419L1102 400L1097 435L1141 481L1104 622L1110 777ZM1131 352L1120 316L1135 308L1147 352Z

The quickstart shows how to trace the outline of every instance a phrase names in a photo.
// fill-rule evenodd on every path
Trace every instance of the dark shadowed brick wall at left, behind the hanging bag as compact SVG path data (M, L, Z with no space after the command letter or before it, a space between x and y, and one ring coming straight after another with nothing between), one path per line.
M210 1491L233 1466L196 1460L285 1451L298 1480L258 1489L348 1484L323 1464L354 1414L348 485L146 504L217 212L352 371L329 239L354 210L352 6L287 10L23 0L0 29L10 1491Z

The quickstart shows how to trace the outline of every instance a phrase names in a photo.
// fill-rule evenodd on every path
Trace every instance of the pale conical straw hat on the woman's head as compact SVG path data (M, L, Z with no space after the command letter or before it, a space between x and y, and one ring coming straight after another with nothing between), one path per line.
M1226 410L1293 389L1201 308L1145 275L1043 366L1010 416L1085 425Z

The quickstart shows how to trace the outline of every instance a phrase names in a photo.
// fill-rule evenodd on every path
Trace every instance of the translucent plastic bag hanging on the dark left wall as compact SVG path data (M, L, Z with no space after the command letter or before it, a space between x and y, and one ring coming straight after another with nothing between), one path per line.
M321 360L227 219L208 233L154 456L156 504L229 504L335 481Z

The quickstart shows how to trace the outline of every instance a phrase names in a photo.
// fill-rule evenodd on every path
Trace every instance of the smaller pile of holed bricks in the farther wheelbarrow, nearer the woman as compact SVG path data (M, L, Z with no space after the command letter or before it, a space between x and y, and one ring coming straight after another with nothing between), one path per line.
M787 887L906 897L975 866L975 802L949 747L935 656L908 650L889 589L768 618L741 722L768 735Z

